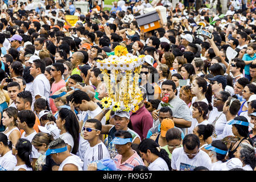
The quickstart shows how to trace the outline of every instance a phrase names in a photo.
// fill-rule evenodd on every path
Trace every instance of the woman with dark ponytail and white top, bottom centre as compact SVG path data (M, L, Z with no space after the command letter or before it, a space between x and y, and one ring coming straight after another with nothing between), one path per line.
M171 171L171 160L168 153L154 140L144 139L138 146L142 159L149 164L150 171Z

